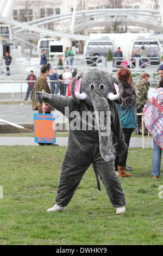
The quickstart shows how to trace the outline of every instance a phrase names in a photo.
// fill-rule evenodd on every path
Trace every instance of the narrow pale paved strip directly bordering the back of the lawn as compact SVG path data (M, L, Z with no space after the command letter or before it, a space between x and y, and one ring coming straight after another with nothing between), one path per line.
M68 138L67 137L57 137L56 144L59 146L67 146ZM27 145L33 146L38 145L34 142L33 137L0 137L0 145ZM142 139L141 138L131 138L130 148L142 148ZM145 142L145 148L147 148L147 142ZM153 139L149 139L149 148L153 148Z

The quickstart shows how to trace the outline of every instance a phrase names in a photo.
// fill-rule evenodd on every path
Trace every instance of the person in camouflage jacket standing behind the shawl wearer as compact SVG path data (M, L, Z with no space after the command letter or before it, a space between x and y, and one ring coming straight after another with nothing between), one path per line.
M148 82L150 78L150 75L148 73L144 73L141 75L141 80L135 84L135 90L138 90L139 93L137 93L137 99L136 99L136 110L137 113L142 113L143 112L143 107L146 105L147 100L148 100L148 90L150 87L150 84ZM137 117L137 124L141 126L141 115ZM141 134L139 130L139 134ZM145 129L145 134L146 134L146 129Z

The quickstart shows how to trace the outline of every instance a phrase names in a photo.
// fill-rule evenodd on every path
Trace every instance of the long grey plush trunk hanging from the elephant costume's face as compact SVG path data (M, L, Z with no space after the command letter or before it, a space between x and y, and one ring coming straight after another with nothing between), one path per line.
M95 116L99 133L99 150L101 156L106 162L115 161L115 155L111 152L111 112L109 109L108 101L99 92L91 92L90 97L95 109Z

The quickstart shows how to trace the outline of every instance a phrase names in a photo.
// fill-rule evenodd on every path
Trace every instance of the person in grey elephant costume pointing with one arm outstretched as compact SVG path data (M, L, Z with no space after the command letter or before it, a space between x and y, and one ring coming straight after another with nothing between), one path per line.
M108 72L91 69L74 78L70 97L35 93L38 102L48 102L69 119L68 146L56 204L47 212L66 210L90 164L98 189L101 190L99 176L112 206L117 208L116 214L126 211L126 200L114 167L115 154L120 155L127 149L116 107L116 103L122 103L122 92L121 83ZM114 145L112 136L116 138Z

